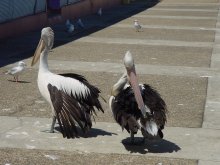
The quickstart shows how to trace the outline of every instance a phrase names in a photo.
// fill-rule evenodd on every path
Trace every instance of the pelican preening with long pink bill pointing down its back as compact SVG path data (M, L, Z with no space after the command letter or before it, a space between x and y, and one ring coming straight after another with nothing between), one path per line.
M112 87L109 106L114 119L131 135L141 130L145 139L163 138L162 129L166 122L167 108L160 94L148 84L138 84L135 64L128 51L124 57L126 72Z

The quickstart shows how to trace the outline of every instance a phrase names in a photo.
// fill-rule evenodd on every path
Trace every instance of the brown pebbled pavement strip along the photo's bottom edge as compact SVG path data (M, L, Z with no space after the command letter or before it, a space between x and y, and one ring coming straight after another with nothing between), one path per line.
M22 157L22 159L21 159ZM189 159L177 159L166 157L152 157L142 155L126 155L126 154L100 154L88 153L80 151L57 151L57 150L27 150L4 148L0 150L1 164L149 164L149 165L197 165L198 161Z

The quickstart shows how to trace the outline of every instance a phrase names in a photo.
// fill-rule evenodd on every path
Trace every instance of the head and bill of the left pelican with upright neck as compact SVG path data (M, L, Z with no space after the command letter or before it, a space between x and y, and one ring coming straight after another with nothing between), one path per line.
M34 53L31 66L37 63L40 58L41 52L45 50L51 50L54 42L54 32L50 27L43 28L41 30L41 38Z

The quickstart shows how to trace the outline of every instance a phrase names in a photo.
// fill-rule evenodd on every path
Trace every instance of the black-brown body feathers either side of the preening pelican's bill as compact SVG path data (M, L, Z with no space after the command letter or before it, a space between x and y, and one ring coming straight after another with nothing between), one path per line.
M160 94L147 84L143 84L141 91L145 105L151 110L152 119L159 126L158 134L163 137L162 129L166 122L167 108L164 100ZM138 120L143 122L142 114L138 108L137 102L134 97L134 92L129 86L120 91L120 93L112 101L112 112L116 122L126 129L129 133L137 133L140 126ZM150 120L149 118L145 120ZM146 122L146 121L145 121Z

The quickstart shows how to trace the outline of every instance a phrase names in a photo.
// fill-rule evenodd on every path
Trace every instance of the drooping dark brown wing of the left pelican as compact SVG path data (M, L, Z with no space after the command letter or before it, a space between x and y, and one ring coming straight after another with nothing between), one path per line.
M63 137L78 137L76 124L84 132L91 128L92 122L86 107L56 86L48 84L48 90Z

